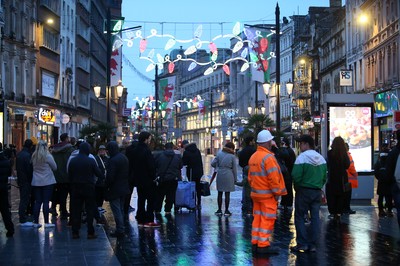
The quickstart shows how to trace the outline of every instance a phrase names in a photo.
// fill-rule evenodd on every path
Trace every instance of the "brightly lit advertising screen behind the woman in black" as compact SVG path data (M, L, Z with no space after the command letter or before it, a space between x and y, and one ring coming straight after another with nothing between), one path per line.
M329 149L335 137L342 137L349 145L357 172L373 168L373 105L328 106Z

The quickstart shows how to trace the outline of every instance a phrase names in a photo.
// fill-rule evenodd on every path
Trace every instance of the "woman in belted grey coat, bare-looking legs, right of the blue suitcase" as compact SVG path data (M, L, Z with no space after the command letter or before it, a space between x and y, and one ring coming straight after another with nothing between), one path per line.
M222 194L225 192L225 216L230 216L229 211L230 193L235 191L237 181L237 166L235 157L235 144L228 142L225 147L217 153L211 162L211 166L217 168L217 190L218 210L216 215L222 215Z

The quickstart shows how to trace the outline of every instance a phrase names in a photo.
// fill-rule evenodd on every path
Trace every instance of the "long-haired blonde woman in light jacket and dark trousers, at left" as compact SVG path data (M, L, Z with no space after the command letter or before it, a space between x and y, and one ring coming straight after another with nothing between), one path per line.
M44 227L54 227L49 223L49 201L53 195L56 179L53 171L57 170L57 164L47 148L47 142L40 140L32 154L32 189L35 197L33 208L33 226L41 227L39 224L40 208L43 208Z

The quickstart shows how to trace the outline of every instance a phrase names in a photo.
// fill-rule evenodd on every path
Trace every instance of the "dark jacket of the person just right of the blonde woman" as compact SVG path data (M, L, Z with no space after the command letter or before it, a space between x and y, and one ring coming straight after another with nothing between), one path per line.
M57 164L57 170L54 171L54 176L57 183L68 183L69 177L67 173L67 162L71 153L75 148L68 142L60 142L53 147L52 155Z

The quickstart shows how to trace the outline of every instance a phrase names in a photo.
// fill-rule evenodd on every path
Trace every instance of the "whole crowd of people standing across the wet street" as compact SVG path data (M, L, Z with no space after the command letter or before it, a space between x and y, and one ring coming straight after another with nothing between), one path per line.
M397 146L392 150L384 148L374 166L380 217L392 217L393 207L400 205L400 133L397 137ZM291 247L292 252L317 250L324 193L329 217L336 223L340 223L342 215L355 213L350 202L352 189L358 187L358 176L345 141L334 138L326 158L315 150L310 135L302 135L296 141L298 156L288 139L275 138L270 131L262 130L256 138L245 137L239 151L233 142L227 142L211 162L217 172L215 214L232 215L230 193L235 191L235 185L242 186L243 214L253 217L251 242L255 253L279 252L270 241L278 208L291 213L294 207L297 245ZM96 150L84 141L71 142L66 133L61 134L60 142L51 151L43 140L25 140L23 149L15 154L20 226L54 227L49 219L52 214L69 219L73 239L80 238L82 222L87 224L87 238L95 239L94 221L104 222L103 204L108 201L116 225L110 236L124 236L125 221L134 210L139 227L157 228L157 216L162 211L165 215L179 211L175 194L183 175L195 183L195 209L200 211L204 169L196 143L184 140L178 147L168 142L160 151L152 150L153 143L153 136L146 131L135 134L132 142L119 146L109 141ZM236 154L242 168L241 182L237 180ZM14 167L9 156L12 154L6 154L0 146L0 211L7 236L12 237L7 183ZM131 206L134 188L138 196L136 209Z

